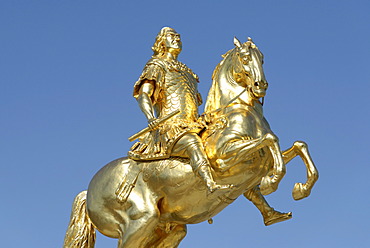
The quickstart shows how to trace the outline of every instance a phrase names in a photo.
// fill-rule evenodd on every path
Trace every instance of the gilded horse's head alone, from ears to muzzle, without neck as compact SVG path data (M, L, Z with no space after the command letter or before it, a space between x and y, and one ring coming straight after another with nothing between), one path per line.
M232 64L235 81L246 87L253 98L264 97L268 84L262 67L263 54L251 38L248 38L248 41L243 44L234 38L234 45Z

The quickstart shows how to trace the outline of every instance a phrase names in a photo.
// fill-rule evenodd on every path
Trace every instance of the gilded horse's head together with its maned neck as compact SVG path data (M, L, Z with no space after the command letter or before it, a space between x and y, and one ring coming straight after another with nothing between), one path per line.
M263 54L251 38L241 43L234 38L235 47L223 55L213 72L205 111L212 112L231 103L254 105L266 95L268 87L263 72Z

